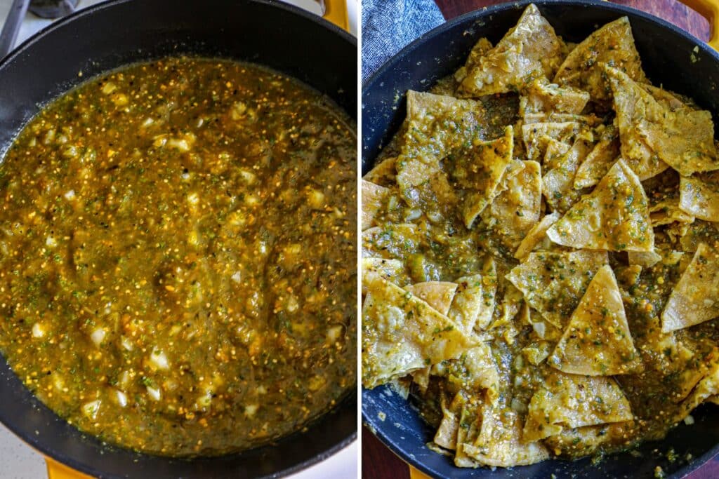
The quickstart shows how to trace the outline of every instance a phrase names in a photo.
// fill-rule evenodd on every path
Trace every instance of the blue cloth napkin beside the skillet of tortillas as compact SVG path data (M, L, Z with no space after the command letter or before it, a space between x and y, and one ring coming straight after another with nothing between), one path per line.
M363 0L362 81L413 39L442 23L434 0Z

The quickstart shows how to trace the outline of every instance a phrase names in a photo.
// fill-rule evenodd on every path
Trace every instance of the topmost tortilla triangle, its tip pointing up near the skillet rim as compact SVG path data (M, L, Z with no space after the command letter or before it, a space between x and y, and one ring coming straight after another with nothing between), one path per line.
M564 58L564 43L533 4L516 26L467 70L462 95L479 97L521 91L538 77L551 78Z

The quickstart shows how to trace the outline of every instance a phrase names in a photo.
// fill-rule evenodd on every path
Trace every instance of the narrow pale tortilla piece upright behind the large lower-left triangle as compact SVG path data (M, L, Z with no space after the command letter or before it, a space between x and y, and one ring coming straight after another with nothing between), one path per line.
M482 324L492 319L496 282L487 282L487 297L485 298L485 284L482 279L482 274L474 274L463 276L456 281L457 292L454 293L454 299L452 299L452 305L449 307L447 315L451 320L462 325L465 332L472 332L480 318L482 318L480 321Z

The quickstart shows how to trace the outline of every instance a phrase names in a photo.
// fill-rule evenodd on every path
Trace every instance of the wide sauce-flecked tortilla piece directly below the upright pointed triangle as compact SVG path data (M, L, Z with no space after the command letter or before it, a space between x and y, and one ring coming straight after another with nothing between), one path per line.
M522 438L536 441L564 429L633 419L629 401L613 378L552 370L529 401Z

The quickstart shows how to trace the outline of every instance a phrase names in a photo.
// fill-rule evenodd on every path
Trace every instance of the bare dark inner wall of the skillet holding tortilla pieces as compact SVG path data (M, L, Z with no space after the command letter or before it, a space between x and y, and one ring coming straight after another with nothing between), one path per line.
M480 37L497 42L531 3L523 0L478 10L423 35L385 63L362 89L362 172L367 172L380 149L395 134L406 115L406 90L427 90L464 63ZM627 15L631 21L642 65L656 85L687 94L702 108L719 113L719 55L672 24L641 11L605 1L535 0L557 34L579 42L601 25ZM692 50L698 47L696 52ZM693 55L692 55L693 54ZM695 61L692 60L692 57ZM384 413L384 415L380 414ZM380 419L380 416L385 419ZM695 424L681 424L659 442L647 442L634 453L612 455L599 465L589 459L574 462L546 460L536 465L495 471L454 467L449 457L429 450L434 437L418 412L405 399L381 386L362 391L362 419L391 450L415 468L442 478L653 478L661 466L681 477L719 452L719 408L700 406ZM669 462L667 452L679 459ZM687 461L687 454L691 459Z

